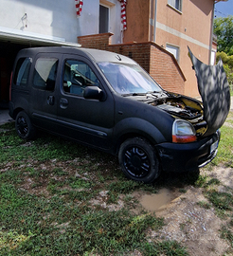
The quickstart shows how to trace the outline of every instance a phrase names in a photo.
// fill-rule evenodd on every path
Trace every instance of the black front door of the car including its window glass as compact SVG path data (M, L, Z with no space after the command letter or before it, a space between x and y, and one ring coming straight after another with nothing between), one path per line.
M65 137L101 149L111 146L114 127L114 98L104 87L96 66L84 57L64 56L63 79L58 99L58 121ZM84 99L87 86L98 86L104 99Z

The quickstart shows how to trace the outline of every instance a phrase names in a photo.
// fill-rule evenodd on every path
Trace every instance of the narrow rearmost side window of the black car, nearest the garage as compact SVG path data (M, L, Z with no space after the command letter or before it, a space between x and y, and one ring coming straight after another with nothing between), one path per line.
M13 82L16 85L26 86L30 69L30 58L20 58L16 64Z

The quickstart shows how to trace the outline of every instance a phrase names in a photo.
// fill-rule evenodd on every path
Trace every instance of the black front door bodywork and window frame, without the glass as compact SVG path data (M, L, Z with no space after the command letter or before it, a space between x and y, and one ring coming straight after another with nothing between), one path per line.
M99 88L106 95L103 101L84 99L79 94L67 93L63 90L63 69L67 60L87 64L92 69L99 80ZM96 66L82 56L63 55L61 71L61 84L57 102L59 132L65 137L71 137L84 144L108 151L113 139L115 101L99 75Z

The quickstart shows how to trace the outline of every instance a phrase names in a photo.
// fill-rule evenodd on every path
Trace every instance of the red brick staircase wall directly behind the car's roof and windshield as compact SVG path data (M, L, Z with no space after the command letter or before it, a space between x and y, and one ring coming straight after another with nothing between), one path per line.
M168 91L184 94L186 78L174 56L152 42L111 45L112 33L78 37L82 47L109 50L132 58Z

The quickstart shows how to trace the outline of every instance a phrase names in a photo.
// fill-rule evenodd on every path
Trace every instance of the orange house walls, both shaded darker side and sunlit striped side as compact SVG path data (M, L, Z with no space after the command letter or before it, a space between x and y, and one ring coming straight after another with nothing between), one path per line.
M170 8L168 0L157 0L155 43L179 47L179 64L187 82L185 94L198 97L196 77L188 58L188 46L193 54L209 64L213 0L183 0L182 12ZM153 40L155 0L127 1L127 30L123 42ZM151 24L150 24L151 19Z

